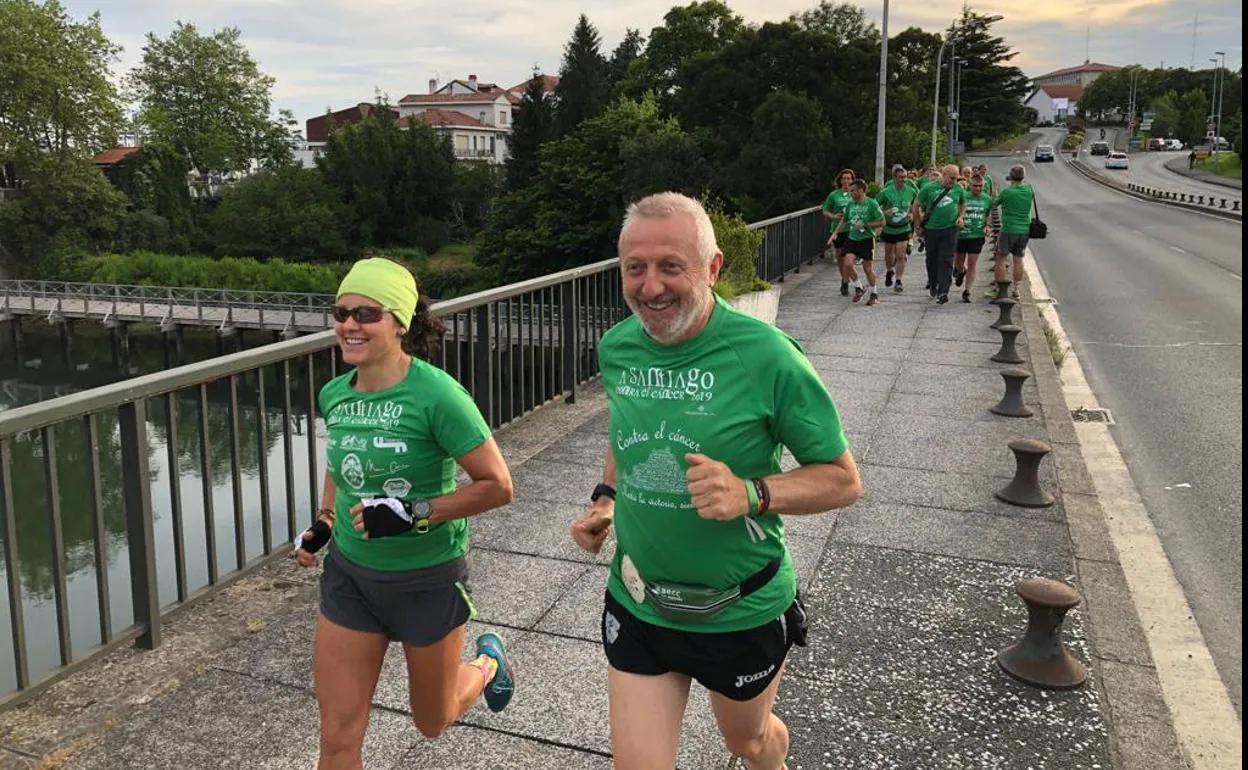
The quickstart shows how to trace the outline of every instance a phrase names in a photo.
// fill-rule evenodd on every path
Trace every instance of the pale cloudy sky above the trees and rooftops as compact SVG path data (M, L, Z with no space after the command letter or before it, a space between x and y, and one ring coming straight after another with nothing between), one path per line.
M125 46L120 70L142 55L147 32L166 34L177 20L202 30L237 26L266 72L277 79L276 107L302 122L327 106L341 109L381 89L392 100L426 92L431 77L478 75L504 87L537 65L558 71L577 16L587 14L614 49L625 27L648 32L674 0L64 0L74 16L100 11L105 31ZM749 21L781 20L817 0L728 0ZM937 30L961 0L897 0L890 34L906 26ZM880 4L867 14L880 21ZM1085 59L1189 66L1193 17L1199 15L1197 66L1213 51L1242 65L1243 14L1237 0L987 0L980 12L1001 14L995 27L1018 51L1016 64L1038 75Z

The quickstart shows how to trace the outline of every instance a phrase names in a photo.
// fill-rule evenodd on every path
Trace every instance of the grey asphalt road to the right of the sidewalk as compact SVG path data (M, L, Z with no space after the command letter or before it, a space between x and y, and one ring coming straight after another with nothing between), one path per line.
M1048 238L1032 253L1242 715L1242 225L1117 193L1063 161L985 162L998 180L1022 162L1036 185Z

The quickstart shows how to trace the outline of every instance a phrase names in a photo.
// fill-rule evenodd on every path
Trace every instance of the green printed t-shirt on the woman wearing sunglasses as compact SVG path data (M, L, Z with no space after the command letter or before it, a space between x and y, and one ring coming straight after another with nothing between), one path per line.
M333 539L352 562L379 570L421 569L468 552L468 519L377 540L356 532L347 513L361 498L406 500L451 494L456 458L489 438L472 396L451 374L412 359L407 377L384 391L359 392L354 369L321 388L326 456L333 477Z

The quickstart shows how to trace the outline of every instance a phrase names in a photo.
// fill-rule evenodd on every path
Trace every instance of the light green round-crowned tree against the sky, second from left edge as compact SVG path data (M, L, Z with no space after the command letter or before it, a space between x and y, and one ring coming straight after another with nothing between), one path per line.
M178 21L167 37L150 32L126 82L149 136L201 173L290 161L287 129L271 117L273 77L256 66L237 27L202 35Z

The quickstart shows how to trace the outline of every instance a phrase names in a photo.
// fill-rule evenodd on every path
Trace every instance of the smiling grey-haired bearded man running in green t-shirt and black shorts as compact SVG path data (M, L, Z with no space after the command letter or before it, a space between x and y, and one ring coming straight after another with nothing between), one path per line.
M614 766L676 765L696 680L728 750L781 770L773 709L806 636L782 519L852 504L857 465L800 346L711 291L724 255L698 201L629 206L619 256L633 316L603 336L603 483L570 528L590 553L615 528L599 626ZM799 468L780 470L781 447Z

